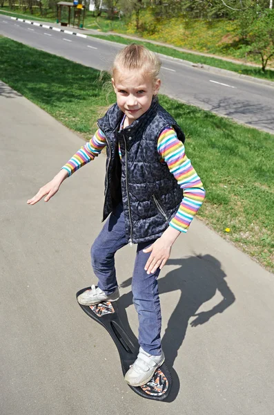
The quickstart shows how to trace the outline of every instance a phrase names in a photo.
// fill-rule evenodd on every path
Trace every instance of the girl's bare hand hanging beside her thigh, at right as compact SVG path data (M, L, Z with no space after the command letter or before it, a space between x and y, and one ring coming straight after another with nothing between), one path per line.
M166 241L163 236L143 250L145 253L151 252L145 266L147 274L154 274L157 268L162 270L164 264L166 264L166 261L170 257L172 243L170 244L170 241Z

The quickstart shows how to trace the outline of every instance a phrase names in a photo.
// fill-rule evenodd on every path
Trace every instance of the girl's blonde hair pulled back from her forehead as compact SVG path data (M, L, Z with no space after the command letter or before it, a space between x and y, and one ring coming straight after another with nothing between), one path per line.
M162 62L155 53L151 52L142 45L130 44L117 53L110 74L114 80L117 80L118 73L122 74L124 70L137 70L140 75L150 76L153 83L156 82L159 75Z

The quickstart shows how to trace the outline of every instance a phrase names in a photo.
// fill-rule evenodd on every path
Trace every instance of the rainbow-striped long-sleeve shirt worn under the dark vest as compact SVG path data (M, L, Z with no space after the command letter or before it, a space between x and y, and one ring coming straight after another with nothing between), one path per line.
M62 169L66 169L68 176L71 176L80 167L99 156L105 146L106 136L103 131L98 129L90 141L84 147L81 147ZM168 165L170 173L173 174L181 189L184 190L182 203L169 224L180 232L186 232L204 201L205 191L202 181L190 160L186 157L184 144L177 138L173 128L164 129L159 135L157 150L162 163ZM121 157L120 151L119 154Z

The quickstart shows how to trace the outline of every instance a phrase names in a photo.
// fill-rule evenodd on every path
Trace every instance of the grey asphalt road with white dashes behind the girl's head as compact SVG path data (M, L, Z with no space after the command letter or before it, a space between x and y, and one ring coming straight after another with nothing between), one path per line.
M0 16L0 34L97 69L108 69L121 45L67 35ZM188 104L274 133L274 88L162 59L162 92Z

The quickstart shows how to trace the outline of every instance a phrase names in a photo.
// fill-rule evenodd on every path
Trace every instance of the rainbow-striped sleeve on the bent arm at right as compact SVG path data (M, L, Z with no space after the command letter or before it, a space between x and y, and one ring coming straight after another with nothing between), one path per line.
M184 144L177 138L173 128L162 131L158 138L157 149L162 162L166 162L170 173L184 191L182 203L169 224L180 232L187 232L193 217L204 201L206 192L203 183L186 157Z

